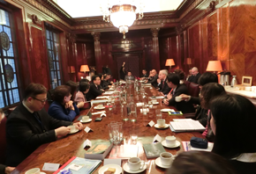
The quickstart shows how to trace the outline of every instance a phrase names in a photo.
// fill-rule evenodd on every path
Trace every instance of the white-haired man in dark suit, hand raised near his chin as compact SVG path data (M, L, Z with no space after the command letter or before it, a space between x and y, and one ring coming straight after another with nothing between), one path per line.
M166 83L167 76L168 76L168 71L166 69L159 71L157 83L158 83L158 88L159 88L160 94L162 96L167 95L170 91L170 88L169 88L168 84Z

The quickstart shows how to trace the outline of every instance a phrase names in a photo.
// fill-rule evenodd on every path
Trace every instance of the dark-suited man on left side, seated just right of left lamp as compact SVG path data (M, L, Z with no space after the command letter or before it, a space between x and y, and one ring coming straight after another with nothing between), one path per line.
M101 90L100 76L92 76L92 83L90 84L90 90L86 94L87 100L92 100L102 95L104 91Z

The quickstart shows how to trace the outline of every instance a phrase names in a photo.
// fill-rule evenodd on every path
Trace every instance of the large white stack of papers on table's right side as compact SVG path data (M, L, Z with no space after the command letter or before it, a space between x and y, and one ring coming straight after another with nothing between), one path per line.
M200 124L200 121L192 119L175 119L174 121L169 121L169 124L170 130L176 133L192 131L203 132L206 130L206 128Z

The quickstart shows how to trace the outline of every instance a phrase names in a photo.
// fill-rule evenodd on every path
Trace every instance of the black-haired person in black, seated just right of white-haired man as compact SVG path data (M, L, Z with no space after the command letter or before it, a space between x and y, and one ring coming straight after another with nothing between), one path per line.
M179 76L177 74L170 73L167 76L167 83L169 88L172 88L172 91L163 99L164 105L172 105L175 106L178 111L183 113L195 112L195 109L191 102L185 101L176 101L176 97L181 94L187 94L187 88L185 84L179 83Z

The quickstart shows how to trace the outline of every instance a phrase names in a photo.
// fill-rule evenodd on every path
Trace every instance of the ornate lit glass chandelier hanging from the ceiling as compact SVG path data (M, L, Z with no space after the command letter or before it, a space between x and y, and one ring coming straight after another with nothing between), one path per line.
M143 18L144 0L103 0L103 20L119 28L119 33L128 32L135 20Z

